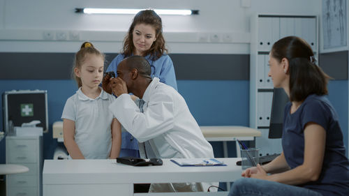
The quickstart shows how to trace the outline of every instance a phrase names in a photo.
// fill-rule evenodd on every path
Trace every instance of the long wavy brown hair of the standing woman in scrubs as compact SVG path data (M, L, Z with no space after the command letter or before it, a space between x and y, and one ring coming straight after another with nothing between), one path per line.
M125 58L131 56L135 52L135 46L133 45L133 30L137 24L149 24L155 29L156 40L151 45L143 56L150 54L151 58L155 61L160 58L164 53L168 53L168 49L165 47L165 39L163 38L163 22L161 17L155 13L154 10L141 10L133 18L130 29L124 39L124 48L122 53Z

